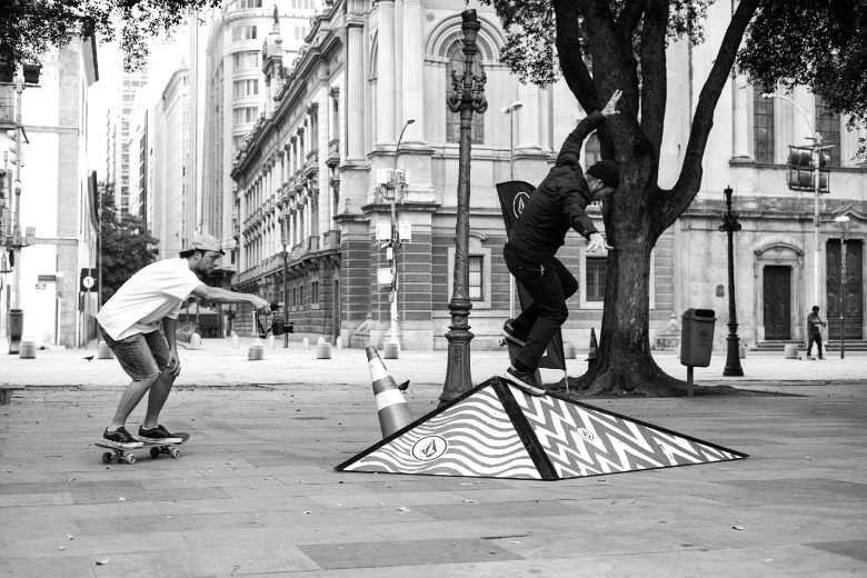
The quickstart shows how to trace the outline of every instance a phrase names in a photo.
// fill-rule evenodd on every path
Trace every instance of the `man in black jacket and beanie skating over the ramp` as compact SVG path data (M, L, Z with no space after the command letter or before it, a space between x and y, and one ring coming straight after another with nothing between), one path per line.
M619 113L621 93L616 90L601 111L591 112L566 138L557 162L530 195L502 249L509 271L532 297L532 305L502 327L504 337L521 347L502 377L531 395L545 395L534 373L569 316L566 300L578 290L578 281L555 257L566 233L575 229L586 238L588 252L608 247L586 209L620 186L620 170L616 162L601 160L582 172L580 152L584 140Z

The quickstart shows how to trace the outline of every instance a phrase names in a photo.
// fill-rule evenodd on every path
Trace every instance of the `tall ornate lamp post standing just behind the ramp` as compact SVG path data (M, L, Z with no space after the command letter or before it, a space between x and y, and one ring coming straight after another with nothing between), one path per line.
M460 153L458 157L458 216L456 223L455 246L455 286L449 301L451 325L446 333L449 342L448 368L446 385L440 395L445 403L460 396L472 387L470 377L470 340L469 318L472 303L469 300L469 196L470 196L470 131L472 130L472 113L482 114L488 110L485 99L486 77L472 74L472 62L479 49L476 37L481 29L481 22L475 10L461 12L461 30L464 31L464 73L451 71L452 91L448 96L448 107L452 112L460 112Z

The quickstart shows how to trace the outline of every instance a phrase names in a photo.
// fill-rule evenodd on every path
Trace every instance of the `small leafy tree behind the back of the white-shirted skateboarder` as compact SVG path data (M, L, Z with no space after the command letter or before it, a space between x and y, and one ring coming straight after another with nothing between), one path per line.
M102 223L100 255L102 258L102 303L120 286L157 259L159 242L144 222L114 206L113 185L100 183L102 190Z

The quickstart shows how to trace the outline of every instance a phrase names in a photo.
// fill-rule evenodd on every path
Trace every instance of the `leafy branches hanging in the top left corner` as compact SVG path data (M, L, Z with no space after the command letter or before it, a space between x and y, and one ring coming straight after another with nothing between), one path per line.
M109 42L120 33L123 66L136 70L148 56L147 40L169 38L191 11L221 0L4 0L0 19L0 60L38 63L51 47L96 33Z

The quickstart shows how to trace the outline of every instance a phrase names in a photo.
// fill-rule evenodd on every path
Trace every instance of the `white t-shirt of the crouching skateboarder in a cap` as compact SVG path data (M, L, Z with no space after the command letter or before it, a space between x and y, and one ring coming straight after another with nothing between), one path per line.
M159 329L163 318L177 319L180 306L202 283L180 257L157 261L129 278L97 315L116 341Z

